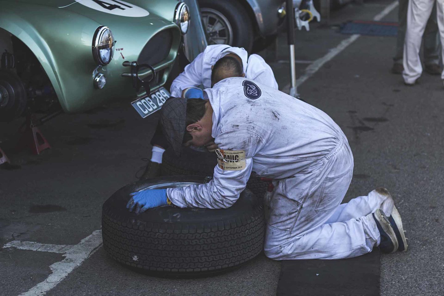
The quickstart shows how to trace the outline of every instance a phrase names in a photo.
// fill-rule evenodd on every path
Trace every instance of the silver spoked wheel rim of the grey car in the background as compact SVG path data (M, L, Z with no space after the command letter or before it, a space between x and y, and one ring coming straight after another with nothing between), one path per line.
M233 45L233 28L221 12L213 8L201 8L200 14L208 45Z

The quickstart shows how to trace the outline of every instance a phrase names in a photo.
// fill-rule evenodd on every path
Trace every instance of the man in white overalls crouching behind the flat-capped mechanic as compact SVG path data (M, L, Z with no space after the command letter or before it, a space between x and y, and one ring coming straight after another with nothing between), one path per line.
M198 88L213 87L214 83L228 77L246 77L277 89L273 70L260 55L250 55L239 47L226 44L208 45L171 84L172 97L203 98ZM169 146L158 126L151 139L152 153L142 178L153 178L159 175L160 163L165 149ZM214 144L207 145L214 150Z

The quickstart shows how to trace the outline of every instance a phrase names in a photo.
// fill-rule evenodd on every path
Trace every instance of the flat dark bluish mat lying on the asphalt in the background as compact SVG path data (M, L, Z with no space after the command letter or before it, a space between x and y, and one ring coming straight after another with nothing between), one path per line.
M361 34L373 36L396 36L398 23L352 20L341 25L342 34Z

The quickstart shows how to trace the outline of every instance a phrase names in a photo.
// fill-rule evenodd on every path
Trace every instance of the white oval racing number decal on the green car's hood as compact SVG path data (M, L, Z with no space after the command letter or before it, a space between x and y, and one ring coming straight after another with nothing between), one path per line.
M123 0L81 0L76 3L117 16L143 17L150 14L147 10Z

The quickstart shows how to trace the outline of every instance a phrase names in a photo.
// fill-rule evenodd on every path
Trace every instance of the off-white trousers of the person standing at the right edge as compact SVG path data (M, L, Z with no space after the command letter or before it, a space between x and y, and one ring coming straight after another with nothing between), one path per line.
M428 18L432 13L436 1L436 19L440 32L441 44L444 44L444 0L409 0L407 10L407 30L404 41L403 65L404 82L415 83L422 74L422 65L419 57L421 39L424 34ZM444 59L444 46L441 50L441 59ZM444 70L441 73L444 79Z

